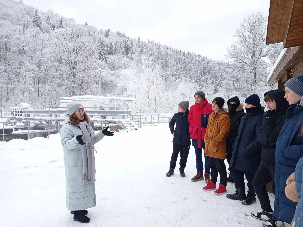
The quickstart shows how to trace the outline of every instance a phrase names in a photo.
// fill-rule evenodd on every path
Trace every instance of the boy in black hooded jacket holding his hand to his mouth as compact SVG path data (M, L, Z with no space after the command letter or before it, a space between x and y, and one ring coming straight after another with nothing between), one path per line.
M275 194L276 142L285 122L286 110L289 107L284 96L285 92L283 90L270 90L264 94L264 101L269 110L265 112L258 132L258 139L262 144L261 164L252 181L262 211L251 212L252 217L264 221L270 219L273 215L266 185L272 180L272 192Z

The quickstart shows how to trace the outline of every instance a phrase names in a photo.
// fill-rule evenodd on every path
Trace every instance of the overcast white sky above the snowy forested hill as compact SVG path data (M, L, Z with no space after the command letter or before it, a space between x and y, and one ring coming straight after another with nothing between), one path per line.
M226 47L236 41L232 36L244 17L257 11L268 17L269 9L269 0L24 0L24 4L218 60L225 60Z

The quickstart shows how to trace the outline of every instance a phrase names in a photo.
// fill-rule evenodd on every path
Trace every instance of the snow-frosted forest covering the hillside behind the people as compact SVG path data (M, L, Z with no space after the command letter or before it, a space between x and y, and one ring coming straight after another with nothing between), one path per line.
M136 98L138 112L175 112L181 100L193 104L196 90L203 90L208 101L237 95L243 102L272 89L266 79L282 49L265 45L267 22L260 12L235 28L238 41L227 47L226 62L93 24L76 24L22 0L1 0L4 108L24 102L56 107L60 97L99 95L99 85L102 96Z

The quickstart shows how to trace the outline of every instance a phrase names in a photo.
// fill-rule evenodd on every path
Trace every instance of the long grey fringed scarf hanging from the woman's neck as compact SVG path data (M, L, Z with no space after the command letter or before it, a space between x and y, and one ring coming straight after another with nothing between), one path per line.
M82 146L83 161L83 184L91 183L96 180L95 167L95 137L94 131L86 121L79 123L82 130L84 145Z

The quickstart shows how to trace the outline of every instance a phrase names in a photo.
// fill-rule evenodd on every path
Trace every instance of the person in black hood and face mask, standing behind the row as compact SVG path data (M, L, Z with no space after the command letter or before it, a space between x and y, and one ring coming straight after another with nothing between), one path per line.
M245 115L243 105L240 103L238 96L232 97L227 101L228 106L228 116L230 119L230 129L228 137L226 138L226 159L228 165L230 164L231 156L232 156L232 144L235 142L238 129L241 122L241 118ZM230 171L230 166L228 167ZM231 174L227 178L227 182L235 183Z

